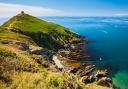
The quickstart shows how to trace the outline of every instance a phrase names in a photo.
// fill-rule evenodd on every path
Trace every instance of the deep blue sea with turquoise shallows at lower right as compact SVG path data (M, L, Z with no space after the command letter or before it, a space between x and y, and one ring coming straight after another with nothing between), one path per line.
M86 49L95 57L90 62L108 68L113 83L120 89L128 89L128 17L41 18L84 35L90 41Z

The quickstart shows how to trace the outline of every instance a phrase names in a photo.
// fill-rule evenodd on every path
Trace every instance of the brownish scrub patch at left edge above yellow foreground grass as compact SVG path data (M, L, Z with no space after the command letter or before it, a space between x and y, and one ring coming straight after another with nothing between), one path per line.
M13 71L36 72L38 68L31 63L12 57L0 57L0 74Z

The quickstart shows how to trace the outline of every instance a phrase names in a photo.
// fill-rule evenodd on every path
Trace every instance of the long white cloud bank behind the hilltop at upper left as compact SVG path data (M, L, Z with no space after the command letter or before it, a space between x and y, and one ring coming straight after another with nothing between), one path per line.
M34 16L57 16L63 13L63 11L51 8L0 3L0 17L11 17L20 13L21 11L24 11Z

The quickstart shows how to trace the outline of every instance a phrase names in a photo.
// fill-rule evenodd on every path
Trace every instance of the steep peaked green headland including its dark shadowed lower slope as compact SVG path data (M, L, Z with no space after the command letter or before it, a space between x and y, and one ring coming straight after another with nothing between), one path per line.
M30 36L38 45L48 49L62 48L65 43L79 40L77 35L70 32L69 29L25 13L14 16L2 27Z

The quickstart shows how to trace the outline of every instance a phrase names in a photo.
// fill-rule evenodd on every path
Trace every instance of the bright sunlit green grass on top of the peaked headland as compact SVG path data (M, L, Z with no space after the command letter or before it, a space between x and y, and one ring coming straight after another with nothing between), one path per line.
M44 20L38 19L28 14L18 14L13 18L11 18L6 23L4 23L2 26L19 29L25 32L34 32L34 33L36 32L49 33L52 30L55 30L62 34L67 34L67 32L69 32L68 29L65 27L62 27L58 24L54 24L51 22L46 22Z

